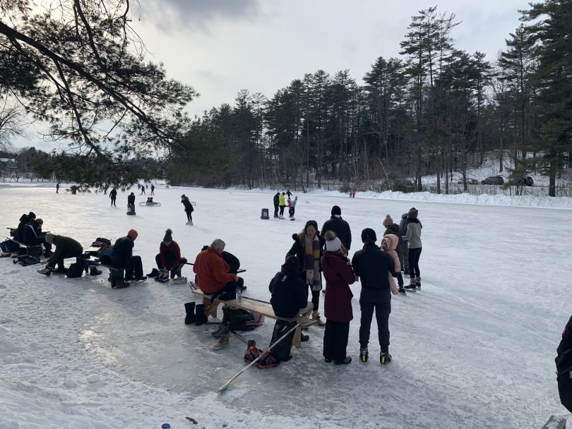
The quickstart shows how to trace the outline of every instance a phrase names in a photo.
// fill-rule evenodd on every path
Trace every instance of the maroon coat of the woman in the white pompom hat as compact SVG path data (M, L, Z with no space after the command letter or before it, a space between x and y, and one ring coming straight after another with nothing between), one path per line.
M354 318L352 312L352 291L350 284L355 282L352 265L347 265L344 255L326 250L322 256L323 277L326 279L326 297L323 301L323 312L326 319L333 322L350 322Z

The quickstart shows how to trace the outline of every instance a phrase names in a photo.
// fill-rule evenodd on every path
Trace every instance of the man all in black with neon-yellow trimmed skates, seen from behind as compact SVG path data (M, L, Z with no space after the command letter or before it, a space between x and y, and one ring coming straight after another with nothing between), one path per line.
M362 293L359 296L359 308L362 310L362 320L359 326L359 358L362 362L367 362L369 331L375 310L381 348L379 361L381 365L385 365L391 361L391 354L389 354L391 290L388 273L391 273L393 277L396 277L397 273L393 258L379 249L376 240L376 231L373 229L366 228L362 231L364 247L355 253L352 258L352 267L354 274L362 282Z

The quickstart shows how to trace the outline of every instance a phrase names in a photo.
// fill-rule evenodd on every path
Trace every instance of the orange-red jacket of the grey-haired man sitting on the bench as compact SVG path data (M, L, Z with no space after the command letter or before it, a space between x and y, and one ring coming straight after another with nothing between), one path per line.
M210 247L197 255L195 265L193 265L198 287L205 294L214 294L228 282L234 281L236 276L229 274L229 270L230 267L222 259L222 255Z

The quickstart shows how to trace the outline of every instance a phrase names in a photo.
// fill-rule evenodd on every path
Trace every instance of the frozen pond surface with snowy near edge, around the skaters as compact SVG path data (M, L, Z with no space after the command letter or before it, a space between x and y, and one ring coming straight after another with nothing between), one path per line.
M135 190L136 192L136 190ZM136 192L137 193L137 192ZM135 228L145 272L167 227L186 258L222 238L237 255L245 296L268 300L268 282L306 219L321 226L332 205L359 231L379 235L386 214L398 221L415 205L422 220L423 290L396 296L390 318L393 362L357 362L359 285L343 368L323 363L323 328L288 363L249 369L224 394L216 390L243 368L245 344L212 351L213 325L184 325L186 285L148 280L113 290L100 277L66 279L0 260L0 429L4 428L540 428L564 414L554 375L561 330L572 314L569 210L456 205L299 194L297 221L261 220L272 193L157 187L161 207L126 215L107 195L55 194L54 188L0 187L0 228L24 212L44 229L84 248ZM186 226L181 193L196 201ZM138 197L136 203L141 201ZM308 200L309 203L305 203ZM191 277L185 268L184 275ZM272 322L244 333L259 346ZM90 379L99 375L100 380Z

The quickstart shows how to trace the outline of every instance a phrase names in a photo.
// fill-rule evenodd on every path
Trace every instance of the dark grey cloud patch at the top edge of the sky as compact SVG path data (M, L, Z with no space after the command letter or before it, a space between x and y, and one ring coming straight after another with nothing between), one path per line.
M259 0L152 0L141 5L141 19L164 31L173 25L207 30L214 20L253 18L259 9Z

